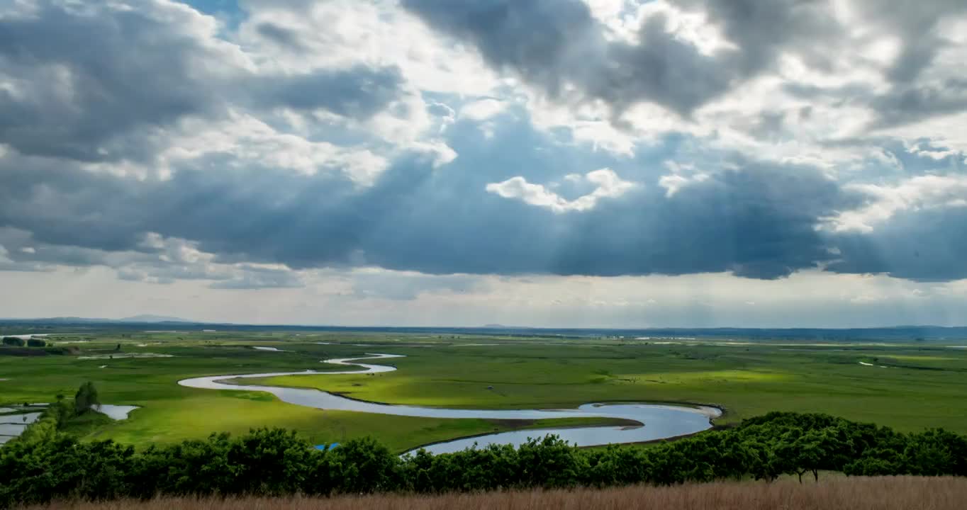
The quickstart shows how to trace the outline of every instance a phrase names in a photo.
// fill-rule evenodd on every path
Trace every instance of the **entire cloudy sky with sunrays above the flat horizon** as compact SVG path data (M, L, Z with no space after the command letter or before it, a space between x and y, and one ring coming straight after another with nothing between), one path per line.
M962 0L0 2L0 317L967 325Z

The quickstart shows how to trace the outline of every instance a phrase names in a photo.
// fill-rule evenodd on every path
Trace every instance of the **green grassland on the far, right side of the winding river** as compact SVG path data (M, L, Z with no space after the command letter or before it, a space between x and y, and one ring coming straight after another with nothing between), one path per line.
M904 431L967 432L967 353L944 347L554 344L397 351L410 357L396 360L399 370L378 379L247 382L392 404L518 409L689 402L724 408L718 424L768 411L815 411Z

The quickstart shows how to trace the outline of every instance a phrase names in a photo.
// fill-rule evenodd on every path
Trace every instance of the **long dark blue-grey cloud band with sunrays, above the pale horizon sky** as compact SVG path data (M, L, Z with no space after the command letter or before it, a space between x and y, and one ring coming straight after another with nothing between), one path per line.
M560 167L570 156L545 157L529 164ZM10 259L20 264L122 268L134 263L143 277L159 281L218 279L213 284L218 288L301 285L294 276L282 276L285 269L222 274L179 269L177 260L158 263L166 248L144 242L146 233L155 232L196 241L216 262L293 269L375 266L433 274L566 275L733 271L777 278L818 263L832 264L838 272L888 272L911 279L965 276L958 258L967 248L963 209L898 215L871 234L826 233L816 229L821 218L860 207L864 197L844 192L808 166L734 159L735 168L713 169L707 180L670 197L659 185L644 183L601 200L591 211L552 213L486 193L486 184L513 177L515 167L492 166L483 157L457 159L446 172L434 171L420 157L405 157L366 188L271 168L206 170L214 160L180 168L168 181L145 182L30 164L36 160L7 160L10 166L0 169L0 225L31 236L8 243ZM541 173L537 167L533 172ZM36 253L18 249L26 245L37 245ZM172 272L178 270L193 272ZM445 287L460 292L465 283L457 279ZM400 283L396 297L411 297L416 291L410 287Z

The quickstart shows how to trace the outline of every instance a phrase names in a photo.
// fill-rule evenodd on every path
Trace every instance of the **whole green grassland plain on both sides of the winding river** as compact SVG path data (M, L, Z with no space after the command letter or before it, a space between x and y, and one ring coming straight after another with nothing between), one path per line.
M181 379L206 375L344 370L327 367L319 360L366 353L407 357L385 360L399 370L375 376L289 376L243 382L316 387L375 402L448 408L688 402L724 408L726 413L718 424L735 423L768 411L814 411L903 431L944 427L967 433L967 399L963 398L967 350L930 344L669 344L278 331L101 331L63 335L55 342L57 338L68 343L56 346L73 352L0 355L0 379L8 380L0 381L0 406L50 402L57 394L70 397L81 382L92 381L103 403L141 409L124 421L90 419L72 424L72 432L88 439L135 444L279 426L294 429L317 443L373 436L402 451L427 442L494 431L575 424L574 420L496 422L321 411L285 404L265 393L203 390L177 384ZM80 340L86 341L75 343ZM285 352L251 349L256 345ZM172 357L121 357L144 353ZM100 358L84 359L87 356Z

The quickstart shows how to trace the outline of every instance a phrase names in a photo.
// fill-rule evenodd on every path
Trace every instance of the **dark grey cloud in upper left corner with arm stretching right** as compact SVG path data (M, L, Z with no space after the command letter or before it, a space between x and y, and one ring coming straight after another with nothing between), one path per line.
M396 68L304 74L245 69L233 46L193 28L186 7L39 2L0 18L0 143L25 155L147 160L179 120L227 108L325 109L367 118L396 98Z

